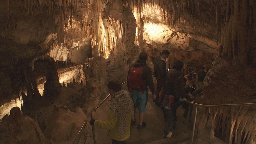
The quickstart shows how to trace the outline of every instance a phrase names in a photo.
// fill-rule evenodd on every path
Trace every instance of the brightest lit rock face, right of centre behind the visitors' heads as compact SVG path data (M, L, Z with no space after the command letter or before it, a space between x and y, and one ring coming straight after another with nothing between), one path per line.
M219 44L215 40L207 39L198 33L192 33L191 29L188 29L189 26L181 32L176 31L176 25L182 26L184 24L177 23L175 26L170 26L166 19L161 16L161 11L154 5L146 4L143 6L141 12L143 23L138 21L140 17L136 9L133 10L133 14L137 23L137 44L142 45L141 50L148 52L153 63L160 52L168 50L171 53L169 60L167 60L168 68L172 68L175 61L182 60L185 64L185 71L192 68L196 73L202 66L210 68L212 61L218 55ZM141 27L143 28L143 36L139 35ZM141 42L143 44L140 44Z

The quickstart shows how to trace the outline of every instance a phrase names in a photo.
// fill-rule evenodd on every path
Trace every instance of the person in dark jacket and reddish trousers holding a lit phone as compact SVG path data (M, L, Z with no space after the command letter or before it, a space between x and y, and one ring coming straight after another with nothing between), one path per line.
M156 77L156 105L159 105L164 100L165 95L165 85L166 85L166 59L168 58L170 52L164 50L160 55L156 56L156 62L154 66L154 76ZM160 94L160 91L163 87L163 91Z

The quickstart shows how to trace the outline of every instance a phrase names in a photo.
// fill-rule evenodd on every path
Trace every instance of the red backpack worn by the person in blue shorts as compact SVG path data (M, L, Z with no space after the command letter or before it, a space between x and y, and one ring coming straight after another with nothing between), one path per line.
M139 89L141 86L143 87L143 79L142 79L142 75L143 75L143 66L142 65L140 67L132 67L129 71L129 75L128 75L128 83L130 85L130 89Z

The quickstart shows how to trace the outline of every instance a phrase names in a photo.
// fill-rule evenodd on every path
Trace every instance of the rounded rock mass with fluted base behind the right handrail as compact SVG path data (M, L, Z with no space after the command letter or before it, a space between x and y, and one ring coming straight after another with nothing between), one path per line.
M197 101L217 105L255 102L255 75L255 69L237 60L218 57L204 79L203 97ZM255 143L255 110L255 107L204 108L197 122L199 141L213 143L217 137L227 143Z

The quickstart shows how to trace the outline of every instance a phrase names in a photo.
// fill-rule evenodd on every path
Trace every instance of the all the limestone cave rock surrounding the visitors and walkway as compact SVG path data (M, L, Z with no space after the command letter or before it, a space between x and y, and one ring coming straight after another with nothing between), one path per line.
M110 79L125 81L141 51L150 68L163 50L171 53L168 68L176 60L184 73L211 67L196 102L256 102L255 39L255 0L2 0L0 130L10 133L3 141L72 143L81 109L88 114L108 95ZM108 103L93 116L104 119L106 110ZM255 143L255 107L200 113L198 142ZM82 139L92 142L85 131Z

